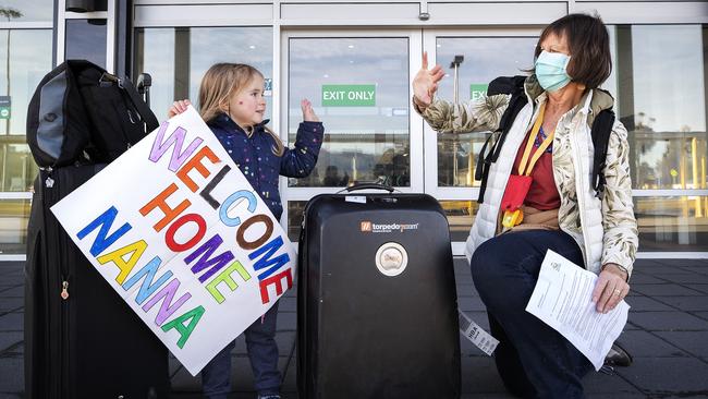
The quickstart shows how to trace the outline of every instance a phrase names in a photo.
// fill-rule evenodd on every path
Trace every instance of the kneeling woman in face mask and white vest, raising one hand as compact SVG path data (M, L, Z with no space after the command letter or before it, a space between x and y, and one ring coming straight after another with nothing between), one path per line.
M613 105L598 89L612 69L608 32L599 17L572 14L551 23L541 33L535 59L534 74L524 83L528 102L489 169L466 253L492 334L501 341L496 361L506 388L524 397L581 398L581 378L591 364L525 307L548 250L599 275L593 292L598 312L614 309L627 294L638 243L627 134L615 121L605 193L597 195L590 184L590 126ZM423 118L438 131L496 131L510 96L463 105L434 100L443 75L439 65L427 69L424 55L413 81L414 107ZM500 211L505 193L521 195L520 209Z

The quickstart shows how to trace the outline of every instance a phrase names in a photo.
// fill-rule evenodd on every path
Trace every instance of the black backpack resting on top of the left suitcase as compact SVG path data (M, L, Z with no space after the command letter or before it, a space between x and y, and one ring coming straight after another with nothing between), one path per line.
M108 164L157 129L127 80L85 60L49 72L27 110L27 144L39 167Z

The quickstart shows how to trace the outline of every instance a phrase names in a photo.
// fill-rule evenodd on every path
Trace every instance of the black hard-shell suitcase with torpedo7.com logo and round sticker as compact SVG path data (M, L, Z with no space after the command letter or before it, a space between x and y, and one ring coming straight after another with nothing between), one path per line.
M298 261L301 399L460 397L450 233L435 198L318 195Z

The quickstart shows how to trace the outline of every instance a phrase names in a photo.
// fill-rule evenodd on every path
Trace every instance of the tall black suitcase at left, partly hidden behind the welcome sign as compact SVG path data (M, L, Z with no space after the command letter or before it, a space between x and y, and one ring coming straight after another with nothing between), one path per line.
M49 209L100 166L41 170L25 266L26 398L166 398L168 351ZM68 297L66 297L68 294Z

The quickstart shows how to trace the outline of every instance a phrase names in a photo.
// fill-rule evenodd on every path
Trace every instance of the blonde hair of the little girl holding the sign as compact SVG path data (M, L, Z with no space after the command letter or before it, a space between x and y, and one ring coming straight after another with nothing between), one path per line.
M224 113L223 105L234 95L244 89L256 76L263 74L255 68L244 63L222 62L211 65L202 78L199 85L199 114L206 122L212 121L220 113ZM246 129L247 126L242 126ZM267 126L266 132L273 137L276 145L271 148L273 154L282 156L285 152L283 142ZM246 131L251 135L253 130Z

